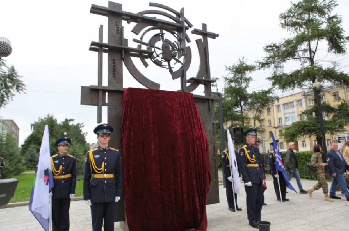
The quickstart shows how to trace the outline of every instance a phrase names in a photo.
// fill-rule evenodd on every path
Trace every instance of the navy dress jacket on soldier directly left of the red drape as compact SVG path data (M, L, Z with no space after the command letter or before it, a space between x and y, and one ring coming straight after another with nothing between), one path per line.
M114 177L93 177L94 174L114 174ZM92 203L114 202L121 196L121 157L113 148L96 148L86 154L84 200Z

